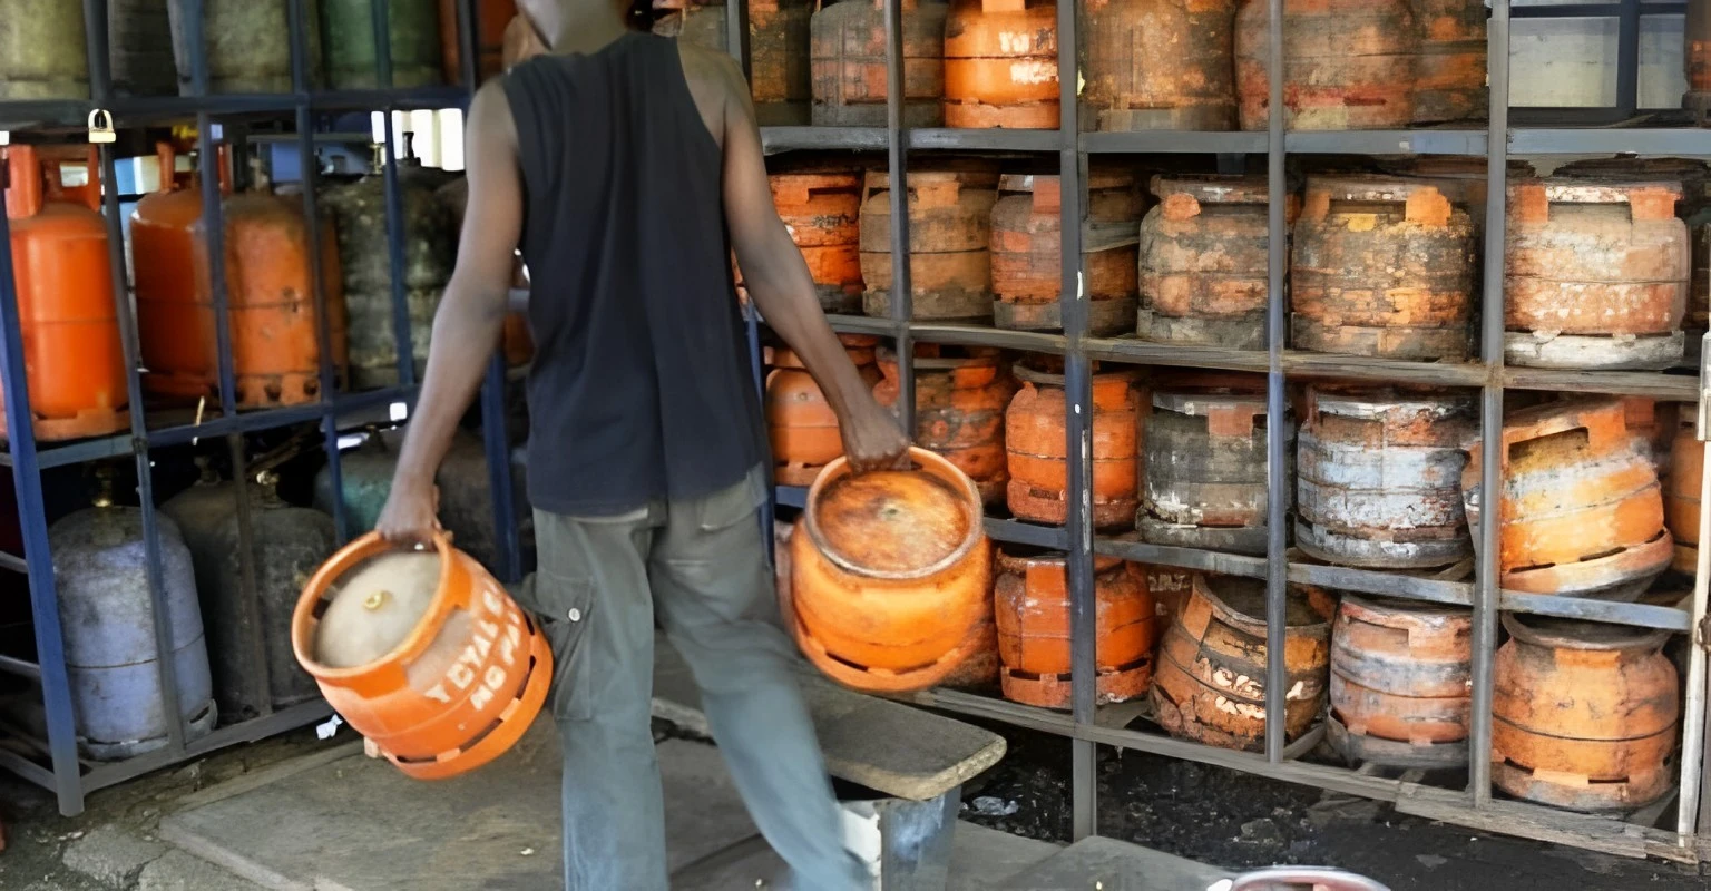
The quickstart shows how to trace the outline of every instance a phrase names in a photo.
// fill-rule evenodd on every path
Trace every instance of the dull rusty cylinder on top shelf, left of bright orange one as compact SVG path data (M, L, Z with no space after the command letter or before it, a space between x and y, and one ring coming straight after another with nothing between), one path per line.
M809 22L814 127L885 127L883 0L840 0ZM944 127L944 17L934 0L902 0L903 127Z

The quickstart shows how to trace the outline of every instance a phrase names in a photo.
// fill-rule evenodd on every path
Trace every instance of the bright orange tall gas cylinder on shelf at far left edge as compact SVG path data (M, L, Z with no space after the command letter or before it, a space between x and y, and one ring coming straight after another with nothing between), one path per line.
M94 183L92 145L86 157ZM31 145L7 147L5 161L12 284L36 438L75 440L123 429L130 422L125 412L130 395L113 308L106 219L94 210L99 190L84 195L87 205L63 200L58 164L44 181L41 156ZM0 414L0 436L5 434Z

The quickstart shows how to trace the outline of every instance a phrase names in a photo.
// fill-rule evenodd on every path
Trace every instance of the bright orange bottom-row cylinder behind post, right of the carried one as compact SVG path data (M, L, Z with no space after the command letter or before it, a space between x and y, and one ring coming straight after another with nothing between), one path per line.
M1097 701L1122 703L1153 679L1158 614L1146 576L1117 558L1093 558ZM992 581L999 682L1006 699L1069 708L1069 583L1063 554L998 554Z

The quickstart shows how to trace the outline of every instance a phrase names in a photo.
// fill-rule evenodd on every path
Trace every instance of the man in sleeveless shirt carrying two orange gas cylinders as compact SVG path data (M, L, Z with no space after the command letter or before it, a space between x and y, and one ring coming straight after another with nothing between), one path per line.
M613 0L522 0L546 53L469 109L457 270L378 528L421 540L433 477L500 339L520 245L532 294L529 605L554 652L565 882L667 886L654 619L702 686L755 823L802 889L862 888L792 677L758 506L767 441L731 284L837 410L857 469L909 441L838 345L767 185L731 58L630 31Z

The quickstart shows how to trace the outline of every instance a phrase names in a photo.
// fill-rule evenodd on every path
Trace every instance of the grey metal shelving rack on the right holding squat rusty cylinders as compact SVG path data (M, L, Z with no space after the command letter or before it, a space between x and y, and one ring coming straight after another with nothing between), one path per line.
M1282 9L1283 0L1266 0L1270 9L1271 58L1273 72L1282 68ZM1075 836L1081 838L1097 833L1095 821L1095 773L1093 759L1097 746L1114 746L1136 749L1170 758L1182 758L1206 764L1240 770L1261 776L1285 782L1305 783L1319 788L1362 795L1391 802L1398 811L1422 816L1434 821L1461 824L1477 829L1519 835L1535 840L1567 843L1591 850L1601 850L1627 857L1658 857L1682 864L1697 865L1711 859L1711 814L1697 807L1701 799L1697 788L1699 766L1704 764L1704 737L1689 730L1685 734L1687 751L1680 761L1689 766L1682 783L1678 804L1677 831L1663 831L1620 819L1574 814L1543 805L1502 800L1492 797L1490 785L1490 747L1492 747L1492 662L1497 648L1497 619L1504 611L1566 616L1605 623L1620 623L1646 628L1663 628L1675 633L1687 633L1704 621L1704 597L1697 597L1692 609L1675 609L1649 604L1617 604L1603 600L1576 600L1566 597L1533 597L1504 592L1497 585L1497 513L1483 511L1478 528L1473 530L1482 544L1473 581L1437 581L1413 578L1406 575L1350 569L1340 566L1323 566L1292 559L1287 549L1285 518L1294 503L1294 491L1283 475L1283 424L1270 426L1270 467L1268 479L1275 494L1270 515L1270 547L1266 558L1234 556L1213 551L1184 547L1162 547L1133 540L1116 540L1098 537L1083 522L1090 513L1090 487L1086 474L1090 467L1090 441L1086 417L1092 412L1092 393L1088 381L1090 361L1140 364L1140 366L1174 366L1252 371L1268 376L1268 407L1273 417L1282 414L1285 405L1285 381L1290 380L1355 380L1372 383L1417 383L1456 388L1478 388L1482 395L1482 438L1483 438L1483 491L1497 491L1499 460L1495 455L1502 431L1502 397L1506 390L1542 390L1542 392L1588 392L1612 395L1636 395L1668 402L1701 402L1701 378L1692 375L1670 373L1625 373L1625 371L1548 371L1531 368L1506 368L1502 359L1502 286L1504 280L1504 219L1506 219L1506 164L1509 156L1567 156L1567 154L1617 154L1636 152L1644 156L1711 156L1711 130L1667 128L1667 127L1627 127L1627 128L1579 128L1579 123L1608 123L1612 113L1564 113L1554 120L1552 127L1511 127L1509 99L1509 26L1513 17L1552 15L1552 17L1619 17L1622 24L1620 62L1627 65L1620 75L1619 96L1622 108L1615 109L1615 120L1625 118L1636 106L1637 58L1637 21L1655 14L1678 14L1684 3L1646 3L1641 10L1639 0L1622 0L1613 3L1572 3L1548 7L1516 7L1511 0L1490 0L1489 22L1489 84L1492 109L1483 128L1422 128L1422 130L1384 130L1384 132L1287 132L1283 125L1283 79L1271 79L1271 118L1266 132L1133 132L1133 133L1083 133L1076 116L1078 77L1078 5L1075 0L1057 3L1057 68L1061 84L1063 118L1059 130L907 130L902 127L902 82L900 63L900 3L886 0L885 22L888 29L888 121L886 128L814 128L814 127L775 127L763 128L763 144L768 154L790 150L878 150L886 149L891 183L902 183L910 152L960 150L960 152L1056 152L1063 174L1063 257L1081 257L1078 226L1083 209L1083 181L1090 156L1102 154L1201 154L1201 156L1264 156L1271 183L1271 217L1270 217L1270 315L1268 315L1268 349L1264 352L1246 352L1222 347L1184 347L1174 344L1150 344L1134 339L1097 339L1086 333L1086 301L1078 291L1080 270L1075 262L1066 262L1063 270L1064 298L1064 332L1039 333L996 330L974 325L938 325L909 322L910 306L909 263L895 263L891 318L833 316L833 328L840 332L876 333L897 340L897 356L902 376L902 405L914 405L914 369L912 342L936 344L970 344L991 345L1013 351L1047 352L1063 356L1068 378L1068 455L1071 510L1068 527L1040 527L1015 520L987 520L986 527L992 539L999 542L1052 547L1069 554L1071 614L1073 614L1073 708L1069 713L1051 711L1016 705L991 696L960 691L927 691L915 698L922 705L943 708L998 720L1033 730L1063 735L1071 741L1071 790L1073 790L1073 826ZM746 10L743 3L731 3L731 43L729 50L739 60L744 56ZM1625 109L1625 111L1624 111ZM1608 111L1608 109L1603 109ZM1562 127L1562 123L1569 127ZM1454 154L1487 159L1489 202L1485 224L1485 282L1482 296L1483 328L1480 332L1483 361L1465 364L1434 364L1396 359L1371 359L1353 356L1316 354L1288 349L1285 344L1287 313L1287 229L1283 219L1285 161L1297 154L1386 154L1386 156L1429 156ZM902 188L891 190L891 250L893 257L907 253L909 215ZM912 412L910 412L912 414ZM914 429L912 422L907 429ZM801 506L802 489L779 487L777 503ZM1319 732L1285 744L1282 722L1270 722L1263 754L1217 749L1196 742L1167 737L1160 732L1129 729L1133 711L1121 708L1095 708L1095 655L1093 655L1093 609L1092 561L1093 554L1112 554L1131 561L1217 571L1266 581L1268 619L1271 629L1270 664L1266 672L1266 689L1270 694L1268 711L1280 713L1283 701L1283 604L1288 583L1309 583L1326 588L1360 593L1379 593L1405 597L1413 600L1466 605L1475 619L1475 655L1473 655L1473 727L1470 782L1466 788L1439 788L1418 785L1401 778L1384 778L1381 775L1353 771L1338 766L1326 766L1300 761L1319 741ZM1704 665L1704 634L1696 634L1692 662ZM1702 677L1702 674L1701 674ZM1687 677L1684 677L1684 687ZM1697 701L1697 706L1694 705ZM1684 717L1684 729L1702 720L1704 691L1689 694L1689 710Z

